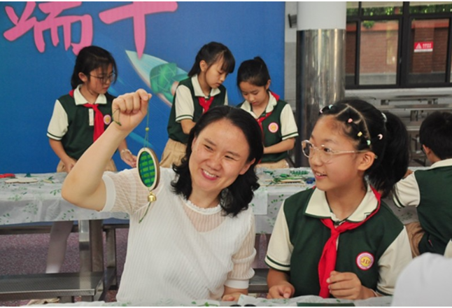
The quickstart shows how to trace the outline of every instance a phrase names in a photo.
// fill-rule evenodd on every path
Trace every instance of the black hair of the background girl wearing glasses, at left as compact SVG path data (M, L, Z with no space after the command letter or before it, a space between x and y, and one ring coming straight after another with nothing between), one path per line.
M113 73L115 74L114 82L116 81L116 76L118 76L118 68L116 67L115 58L113 58L111 53L104 48L94 45L82 48L80 52L78 52L76 65L73 66L71 77L72 89L75 89L78 85L83 83L78 77L78 73L84 73L88 80L90 80L90 71L101 67L102 71L104 71L105 74L108 74L107 70L108 65L110 64L113 66Z

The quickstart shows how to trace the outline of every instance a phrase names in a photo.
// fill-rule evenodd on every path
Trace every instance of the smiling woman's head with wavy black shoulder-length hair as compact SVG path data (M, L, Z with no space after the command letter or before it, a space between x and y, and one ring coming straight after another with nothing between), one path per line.
M260 128L246 112L218 106L190 132L185 158L174 167L173 186L199 207L220 205L235 216L248 207L257 185L254 166L262 157ZM251 166L251 167L250 167Z

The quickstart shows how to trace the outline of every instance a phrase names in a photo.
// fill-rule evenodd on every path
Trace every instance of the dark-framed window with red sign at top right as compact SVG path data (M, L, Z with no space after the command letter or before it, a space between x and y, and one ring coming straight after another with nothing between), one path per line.
M346 88L450 87L452 1L348 1Z

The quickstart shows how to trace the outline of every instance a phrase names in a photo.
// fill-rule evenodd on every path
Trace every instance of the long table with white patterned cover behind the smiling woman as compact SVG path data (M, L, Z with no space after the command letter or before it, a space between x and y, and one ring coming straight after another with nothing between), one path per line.
M311 169L306 167L271 170L272 176L264 170L257 170L260 182L265 185L255 191L255 197L250 206L255 212L256 233L269 235L274 228L276 216L283 201L301 190L312 187L313 183L307 184L306 181L302 181L281 184L281 182L264 181L265 178L267 177L268 180L284 174L302 174L303 179L310 179L313 174ZM24 176L24 174L17 174L17 176ZM80 271L104 271L101 220L128 219L127 214L99 213L66 202L61 197L61 186L66 176L64 173L31 174L30 176L37 179L37 182L7 184L6 179L0 179L0 227L17 223L79 221ZM398 209L392 200L385 201L402 223L418 220L416 208Z

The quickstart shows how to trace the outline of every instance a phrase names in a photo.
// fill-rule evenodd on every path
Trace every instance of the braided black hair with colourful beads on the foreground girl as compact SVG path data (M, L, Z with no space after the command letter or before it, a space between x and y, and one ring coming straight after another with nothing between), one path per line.
M358 151L375 153L376 160L365 176L386 197L408 169L409 134L402 120L360 99L344 99L326 106L320 116L327 115L343 123L346 136L358 142Z

